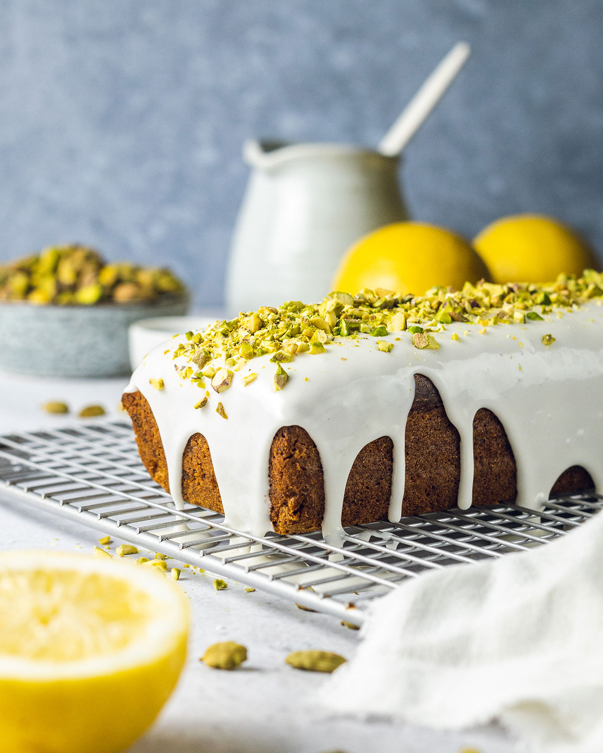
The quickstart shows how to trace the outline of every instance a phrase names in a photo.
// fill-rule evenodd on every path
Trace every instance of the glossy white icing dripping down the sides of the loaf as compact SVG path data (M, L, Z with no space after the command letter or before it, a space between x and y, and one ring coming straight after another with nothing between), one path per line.
M451 340L455 332L459 342ZM552 334L556 342L546 348L543 334ZM191 434L200 432L210 446L228 525L264 535L272 529L271 442L281 426L298 425L320 453L323 533L332 544L339 542L341 505L354 459L382 436L394 444L389 517L399 520L415 373L439 390L461 437L459 506L471 503L473 417L480 408L491 410L507 431L517 465L518 504L537 509L571 465L582 465L603 487L603 307L589 303L573 312L554 310L543 322L491 325L483 334L476 325L448 325L436 334L440 347L435 351L415 349L407 333L383 339L394 343L390 353L378 351L375 338L366 336L337 339L321 355L298 356L283 364L289 382L280 392L274 391L275 364L269 356L253 358L235 373L228 391L216 395L210 389L207 406L198 410L194 404L204 389L182 380L174 369L175 363L188 365L184 358L173 361L179 339L149 353L127 390L142 392L158 422L176 506L182 506L182 453ZM244 386L242 377L252 371L258 378ZM158 378L164 380L161 391L149 384ZM218 401L228 419L216 413Z

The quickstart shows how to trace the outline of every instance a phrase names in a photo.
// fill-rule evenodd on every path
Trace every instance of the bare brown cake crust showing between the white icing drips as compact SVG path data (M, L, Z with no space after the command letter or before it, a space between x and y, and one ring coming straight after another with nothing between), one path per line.
M126 392L122 404L130 415L136 444L151 477L170 491L164 447L155 416L141 392ZM446 416L433 383L415 375L415 400L406 422L406 485L403 516L445 511L457 504L461 475L460 439ZM354 526L387 519L393 471L393 442L379 437L360 450L345 488L341 522ZM473 421L473 504L494 505L516 498L516 463L503 425L482 408ZM270 517L280 534L320 529L325 495L320 454L308 432L283 426L274 435L268 460ZM579 466L566 469L551 494L592 488ZM182 456L182 496L193 505L223 513L210 447L193 434Z

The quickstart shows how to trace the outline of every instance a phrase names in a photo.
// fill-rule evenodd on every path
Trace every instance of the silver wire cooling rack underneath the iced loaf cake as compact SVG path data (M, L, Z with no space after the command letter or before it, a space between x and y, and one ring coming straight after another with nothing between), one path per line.
M261 538L172 498L139 460L129 423L98 422L0 437L0 482L35 514L44 509L360 625L370 599L433 569L525 550L564 534L603 507L594 493L458 509L346 529L341 546L319 533Z

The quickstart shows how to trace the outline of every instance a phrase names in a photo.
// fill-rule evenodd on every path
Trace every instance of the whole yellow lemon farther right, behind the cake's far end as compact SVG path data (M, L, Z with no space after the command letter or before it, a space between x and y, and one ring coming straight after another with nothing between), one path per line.
M489 224L473 245L493 282L550 282L561 272L579 275L596 261L571 227L543 215L513 215Z

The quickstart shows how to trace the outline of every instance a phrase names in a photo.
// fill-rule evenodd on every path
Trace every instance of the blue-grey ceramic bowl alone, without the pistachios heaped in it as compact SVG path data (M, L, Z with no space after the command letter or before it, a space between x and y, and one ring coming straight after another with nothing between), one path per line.
M155 316L184 316L188 304L188 294L94 306L0 303L0 368L39 377L125 376L130 373L130 325Z

